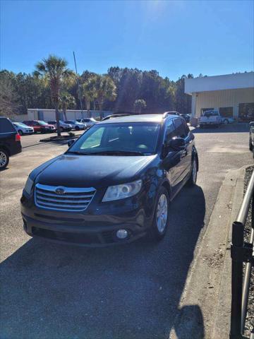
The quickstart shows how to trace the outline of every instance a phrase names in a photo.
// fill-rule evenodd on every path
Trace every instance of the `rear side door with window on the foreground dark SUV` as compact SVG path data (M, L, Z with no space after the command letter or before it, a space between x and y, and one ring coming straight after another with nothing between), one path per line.
M176 136L179 138L183 138L185 141L185 148L184 150L181 150L181 173L179 174L179 179L181 181L191 171L193 135L190 132L188 125L186 124L186 121L184 119L174 119L174 126Z

